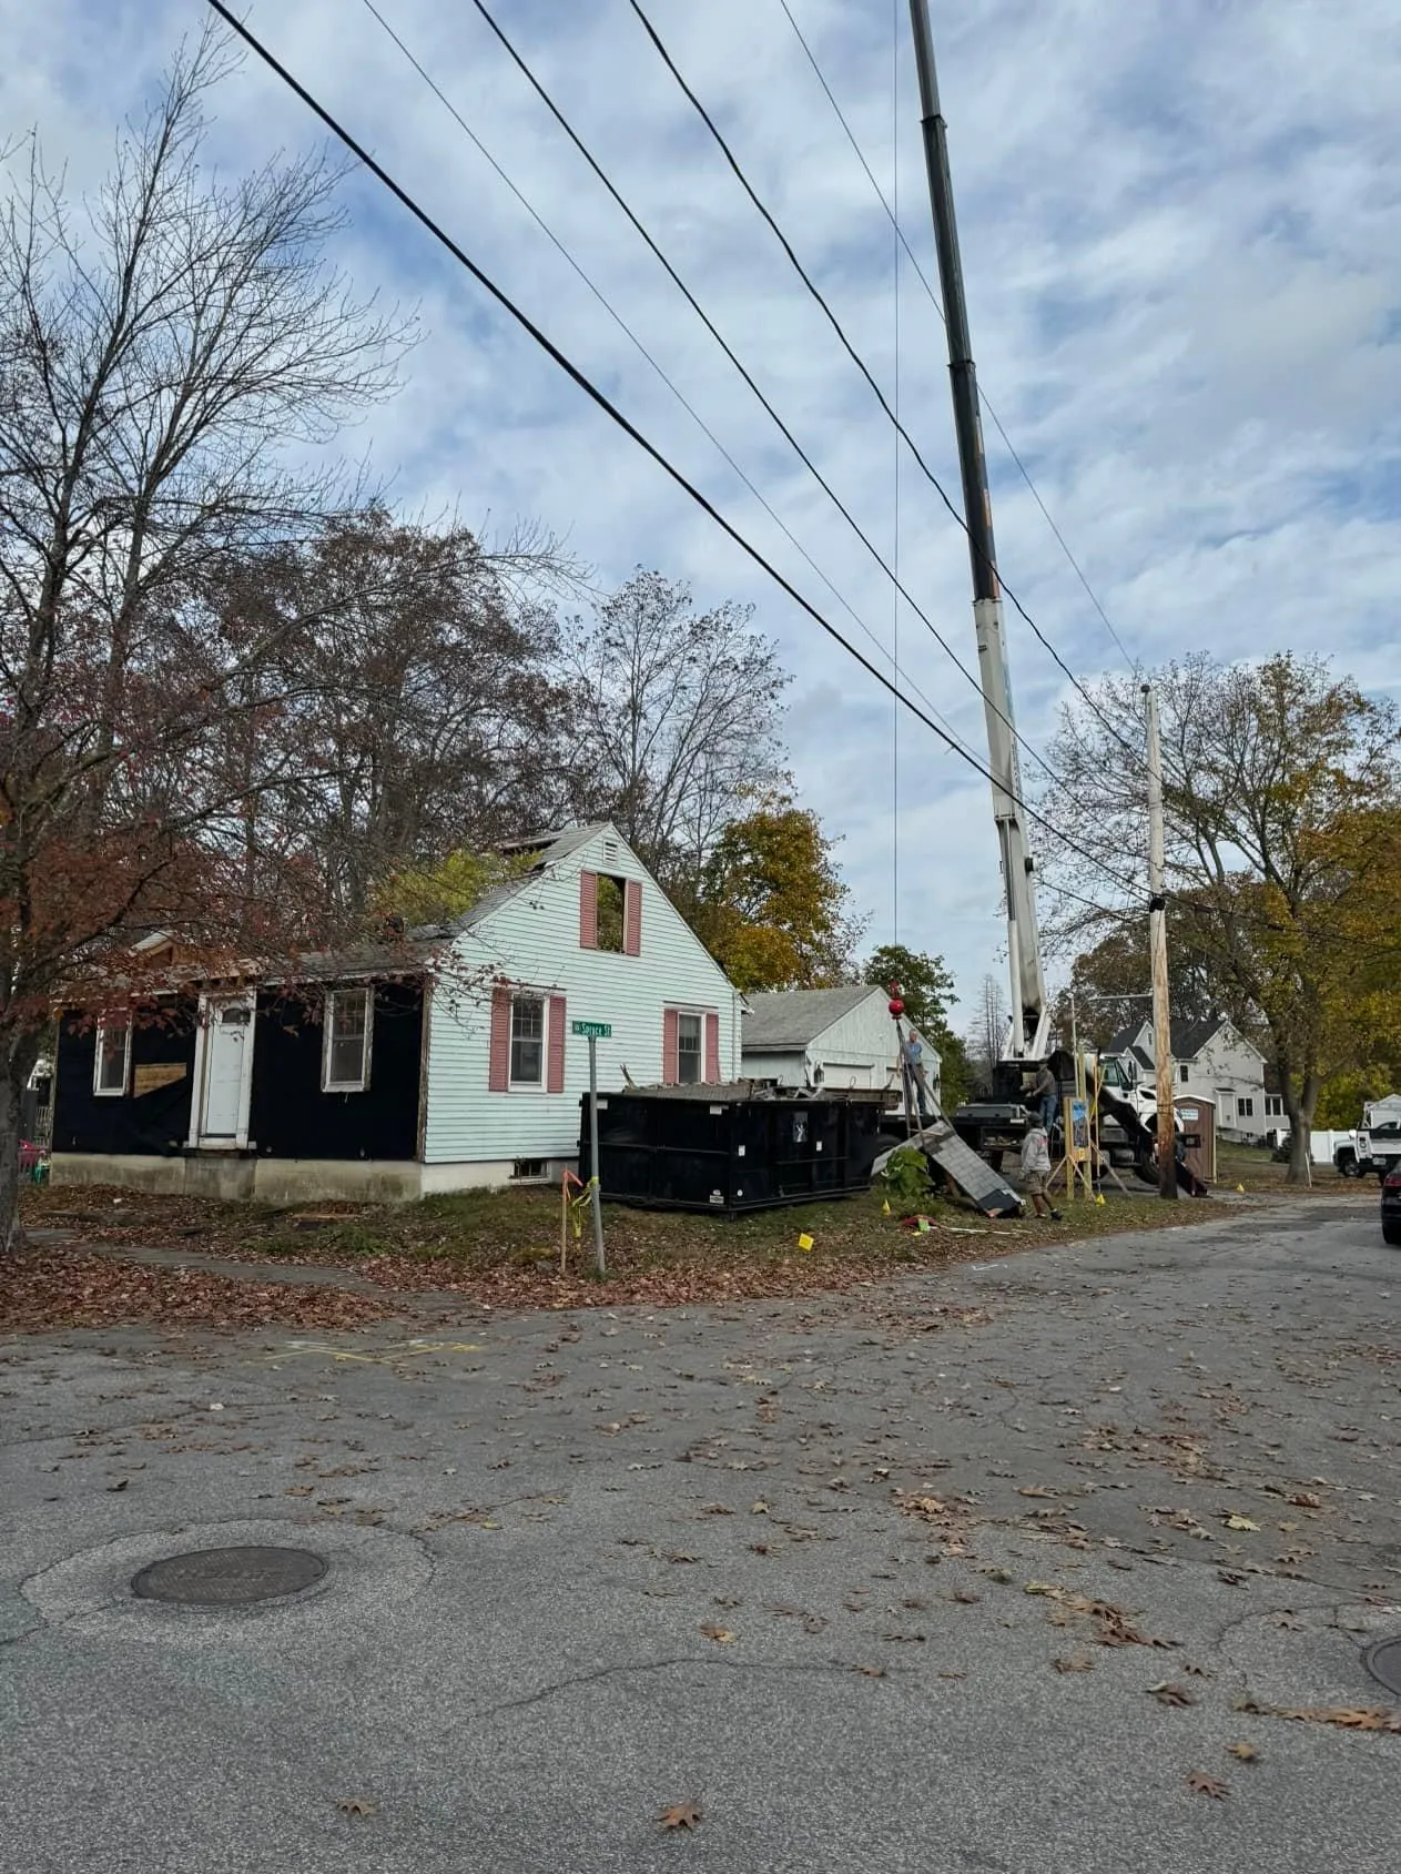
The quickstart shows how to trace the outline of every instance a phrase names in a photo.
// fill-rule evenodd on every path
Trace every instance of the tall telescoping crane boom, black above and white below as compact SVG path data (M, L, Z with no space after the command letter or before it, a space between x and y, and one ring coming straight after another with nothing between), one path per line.
M972 617L978 635L978 680L987 720L987 755L993 774L993 819L1002 853L1002 885L1008 900L1008 967L1011 973L1011 1021L1004 1059L1040 1061L1047 1051L1049 1010L1041 971L1041 939L1036 928L1036 881L1026 843L1021 763L1011 714L1008 643L1002 626L1002 587L996 577L993 542L993 498L987 487L983 425L978 414L978 371L968 337L968 307L963 298L959 231L953 219L953 184L948 167L948 126L938 109L935 39L927 0L910 0L914 62L920 75L920 122L923 129L929 204L935 214L938 283L948 326L948 367L953 388L953 427L963 474L963 513L968 523L972 560Z

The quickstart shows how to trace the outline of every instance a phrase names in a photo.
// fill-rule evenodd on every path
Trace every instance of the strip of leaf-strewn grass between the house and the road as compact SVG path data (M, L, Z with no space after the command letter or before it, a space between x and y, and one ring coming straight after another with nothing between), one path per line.
M94 1327L154 1321L167 1327L257 1327L285 1321L354 1327L425 1291L451 1291L494 1308L652 1306L749 1297L815 1295L873 1284L920 1269L1006 1256L1038 1244L1116 1229L1201 1222L1212 1201L1159 1205L1113 1196L1066 1209L1060 1224L989 1220L935 1203L920 1231L882 1212L878 1194L839 1203L766 1211L725 1220L605 1207L607 1278L592 1267L583 1235L568 1233L560 1269L560 1194L526 1188L463 1192L395 1207L315 1205L303 1211L150 1197L103 1186L34 1188L24 1197L32 1229L56 1227L73 1242L15 1259L0 1282L0 1329ZM811 1237L811 1250L800 1248ZM230 1274L139 1267L88 1254L172 1250L236 1263L320 1263L354 1271L386 1291L326 1291L260 1284ZM391 1297L403 1297L395 1302Z

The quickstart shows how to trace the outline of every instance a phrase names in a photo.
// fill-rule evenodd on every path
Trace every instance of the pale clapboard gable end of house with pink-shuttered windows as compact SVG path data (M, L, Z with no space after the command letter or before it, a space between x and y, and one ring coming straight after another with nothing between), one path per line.
M420 1190L558 1177L599 1091L738 1074L742 997L611 825L513 841L534 862L453 930L429 986ZM468 984L466 989L453 984Z

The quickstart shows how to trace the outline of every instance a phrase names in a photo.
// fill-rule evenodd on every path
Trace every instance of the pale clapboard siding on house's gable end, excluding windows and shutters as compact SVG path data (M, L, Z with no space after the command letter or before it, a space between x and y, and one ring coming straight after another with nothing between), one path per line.
M605 840L616 855L605 855ZM579 873L603 871L642 885L641 956L584 950L579 943ZM661 1079L665 1008L719 1016L719 1070L738 1070L740 997L661 886L612 826L597 826L545 871L485 911L455 943L457 974L481 988L435 988L429 1018L429 1166L573 1158L579 1100L588 1091L588 1042L573 1021L611 1021L597 1044L599 1089L622 1089L622 1068L641 1087ZM564 1093L491 1093L491 978L504 976L543 995L566 997Z

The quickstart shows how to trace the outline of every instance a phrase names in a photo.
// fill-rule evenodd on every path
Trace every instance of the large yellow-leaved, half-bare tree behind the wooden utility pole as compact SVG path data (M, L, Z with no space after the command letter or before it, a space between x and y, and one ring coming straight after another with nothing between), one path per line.
M1304 1181L1324 1079L1397 1027L1397 714L1289 654L1261 665L1201 654L1154 688L1171 920L1225 1012L1264 1048L1289 1115L1289 1177ZM1144 845L1144 768L1122 750L1139 720L1137 684L1111 678L1092 708L1066 710L1051 748L1064 781L1051 811L1116 873ZM1081 898L1103 890L1066 845L1051 847L1047 873ZM1113 922L1071 911L1086 933Z

